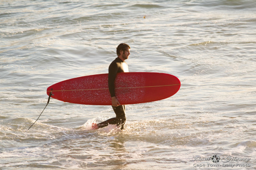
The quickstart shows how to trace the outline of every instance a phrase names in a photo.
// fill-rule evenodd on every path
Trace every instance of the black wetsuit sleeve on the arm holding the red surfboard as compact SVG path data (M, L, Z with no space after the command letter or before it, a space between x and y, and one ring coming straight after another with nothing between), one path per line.
M108 90L110 92L111 97L116 96L115 95L115 79L116 79L116 74L118 71L117 63L113 62L111 65L109 65L108 68Z

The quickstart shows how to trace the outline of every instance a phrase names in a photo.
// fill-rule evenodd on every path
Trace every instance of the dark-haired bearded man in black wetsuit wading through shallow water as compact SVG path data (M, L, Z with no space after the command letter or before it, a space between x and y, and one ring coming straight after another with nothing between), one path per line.
M121 105L118 99L116 99L114 81L116 79L117 73L129 72L128 65L125 62L125 59L128 59L130 55L130 49L130 46L125 43L119 44L116 48L117 57L113 60L113 62L111 62L108 68L108 89L112 99L112 108L113 111L116 113L116 117L98 124L93 123L93 129L102 128L108 125L116 125L120 129L124 128L126 121L125 105Z

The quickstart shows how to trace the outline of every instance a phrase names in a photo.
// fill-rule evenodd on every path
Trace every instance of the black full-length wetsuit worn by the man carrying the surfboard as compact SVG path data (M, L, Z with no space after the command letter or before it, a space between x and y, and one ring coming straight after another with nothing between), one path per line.
M122 61L119 57L117 57L108 68L108 89L111 97L115 96L115 85L114 81L116 79L116 74L120 72L128 72L128 65L125 61ZM98 127L105 127L110 125L117 125L120 129L124 128L126 117L125 117L125 105L119 105L117 107L112 106L114 112L116 113L116 117L108 119L104 122L101 122Z

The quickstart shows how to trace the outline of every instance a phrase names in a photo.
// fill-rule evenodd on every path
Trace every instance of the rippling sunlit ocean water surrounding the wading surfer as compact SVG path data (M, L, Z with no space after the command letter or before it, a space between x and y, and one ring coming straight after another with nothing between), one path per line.
M256 169L255 0L0 0L0 169ZM127 105L125 129L90 130L111 106L51 99L103 74L116 47L130 72L180 79L174 96ZM212 156L219 156L215 163Z

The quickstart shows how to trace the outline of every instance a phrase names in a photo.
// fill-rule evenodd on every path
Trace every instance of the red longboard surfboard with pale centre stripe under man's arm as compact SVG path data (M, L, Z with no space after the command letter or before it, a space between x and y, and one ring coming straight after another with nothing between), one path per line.
M121 105L166 99L180 89L180 80L170 74L151 72L118 73L115 94ZM47 95L64 102L84 105L112 105L108 74L77 77L47 88Z

